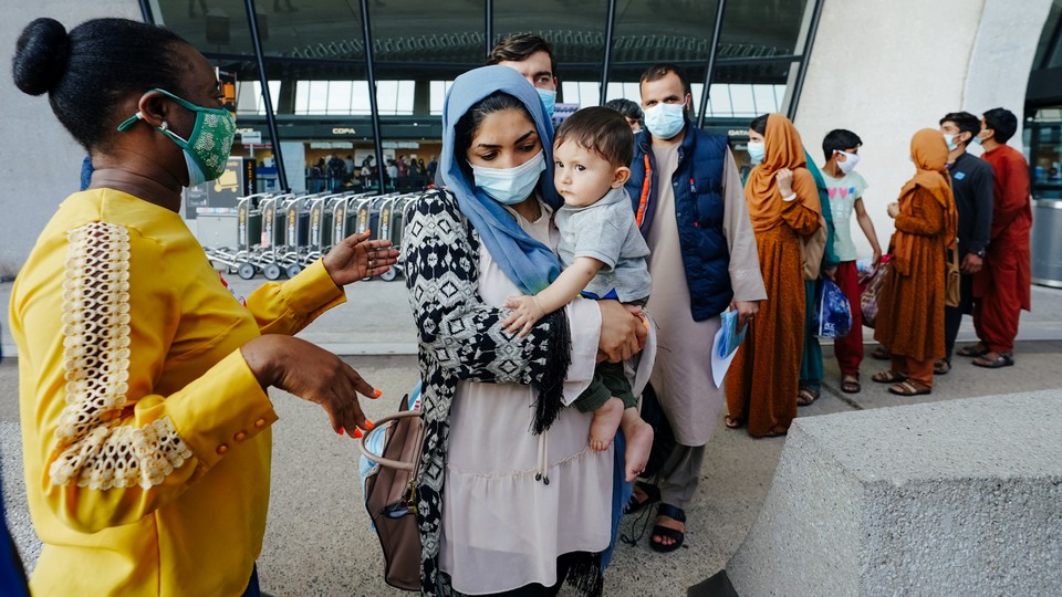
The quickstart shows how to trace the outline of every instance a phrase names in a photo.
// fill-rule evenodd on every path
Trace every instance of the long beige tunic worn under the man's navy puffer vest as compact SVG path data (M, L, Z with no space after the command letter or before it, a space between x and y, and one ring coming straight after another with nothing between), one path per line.
M678 145L653 146L657 184L656 216L647 242L653 293L646 310L657 325L658 350L650 383L684 446L704 446L711 439L725 405L722 388L711 379L711 344L719 317L695 322L689 310L689 286L678 243L671 176L678 167ZM767 298L756 237L733 156L727 150L722 169L725 218L722 230L730 249L730 285L735 301Z

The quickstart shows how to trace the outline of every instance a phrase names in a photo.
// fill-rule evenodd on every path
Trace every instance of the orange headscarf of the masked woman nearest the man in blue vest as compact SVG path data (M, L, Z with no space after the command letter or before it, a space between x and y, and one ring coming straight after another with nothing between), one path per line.
M815 178L808 170L804 159L804 146L800 140L800 133L789 118L781 114L770 114L767 117L767 129L763 133L763 161L756 165L749 172L745 184L745 200L749 205L749 219L752 229L757 232L770 230L782 221L782 193L778 190L774 176L782 168L793 170L794 201L801 201L809 209L819 213L822 223L822 210L819 207L819 189L815 188Z

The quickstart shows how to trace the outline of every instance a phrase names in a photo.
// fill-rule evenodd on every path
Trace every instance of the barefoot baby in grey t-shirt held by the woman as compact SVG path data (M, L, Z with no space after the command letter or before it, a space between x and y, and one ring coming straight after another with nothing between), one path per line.
M634 137L627 121L606 107L581 109L556 130L553 144L554 185L564 206L556 211L561 232L558 254L563 272L534 296L510 296L506 306L509 332L525 335L546 313L580 294L645 305L649 295L649 254L623 184L631 176ZM644 317L643 317L643 321ZM646 324L648 325L648 324ZM637 398L622 363L601 363L594 380L575 401L581 412L593 412L590 448L605 450L623 428L626 438L626 479L633 481L648 461L653 428L642 420Z

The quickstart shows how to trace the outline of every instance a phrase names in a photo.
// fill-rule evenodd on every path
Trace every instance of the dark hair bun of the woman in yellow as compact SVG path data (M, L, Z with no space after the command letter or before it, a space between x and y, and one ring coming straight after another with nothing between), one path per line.
M14 84L30 95L52 91L66 73L70 35L55 19L37 19L25 25L11 60Z

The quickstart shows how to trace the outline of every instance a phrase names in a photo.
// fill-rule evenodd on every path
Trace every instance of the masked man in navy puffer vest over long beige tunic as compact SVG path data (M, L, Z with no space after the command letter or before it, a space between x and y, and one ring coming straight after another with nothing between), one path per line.
M674 64L646 71L641 91L646 130L635 136L626 188L652 251L646 311L657 325L659 350L650 383L677 446L659 488L639 483L628 512L659 498L649 546L673 552L685 540L684 509L726 404L722 384L711 375L719 315L736 310L743 326L767 292L727 138L691 124L689 84Z

